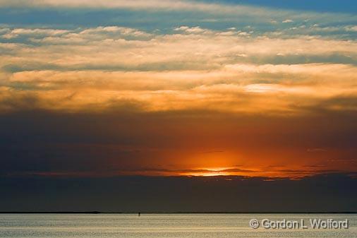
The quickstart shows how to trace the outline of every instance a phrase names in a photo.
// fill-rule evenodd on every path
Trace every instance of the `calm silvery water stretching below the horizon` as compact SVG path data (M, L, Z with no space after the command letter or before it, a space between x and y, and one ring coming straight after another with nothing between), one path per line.
M310 218L349 220L348 230L266 230L249 227L258 220L301 220ZM357 215L256 215L256 214L169 214L169 215L21 215L0 214L0 237L357 237Z

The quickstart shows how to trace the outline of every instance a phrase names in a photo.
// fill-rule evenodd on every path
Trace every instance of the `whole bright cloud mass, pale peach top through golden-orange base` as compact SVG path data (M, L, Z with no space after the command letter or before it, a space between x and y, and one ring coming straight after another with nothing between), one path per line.
M325 59L341 54L353 60L354 41L241 36L238 29L199 26L165 34L119 26L2 29L0 97L6 111L106 110L121 102L148 111L298 114L322 104L354 108L344 106L346 101L334 107L325 103L356 95L352 64L262 64L281 55ZM267 95L280 98L265 100ZM25 98L36 103L25 105Z

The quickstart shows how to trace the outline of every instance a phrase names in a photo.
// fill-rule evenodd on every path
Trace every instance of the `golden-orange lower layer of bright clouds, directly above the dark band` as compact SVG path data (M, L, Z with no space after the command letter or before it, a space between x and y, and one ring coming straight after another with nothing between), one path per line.
M254 67L257 66L252 65L248 69ZM297 72L291 72L290 66L277 67L283 71L271 73L265 66L262 69L271 73L265 76L266 81L276 81L274 78L282 73L288 75L280 83L255 83L255 78L264 75L265 71L241 73L236 68L228 71L164 72L23 71L13 73L8 81L11 88L1 91L2 106L11 110L21 109L21 98L33 97L37 104L30 103L28 107L76 111L106 110L121 101L145 105L141 109L149 111L210 108L253 114L276 110L299 114L317 105L320 109L353 109L353 102L349 100L329 101L340 95L356 95L356 89L346 88L346 85L353 85L353 71L356 71L353 67L346 71L344 66L334 69L334 65L325 65L326 69L333 71L331 75L318 67L310 72L314 69L310 65L298 66L301 71ZM226 78L226 83L222 83L222 77ZM295 83L290 81L294 77L297 79ZM298 81L298 78L309 77L315 81ZM339 82L341 78L344 78L343 82ZM279 98L267 100L267 95L279 95ZM296 104L299 107L292 107Z

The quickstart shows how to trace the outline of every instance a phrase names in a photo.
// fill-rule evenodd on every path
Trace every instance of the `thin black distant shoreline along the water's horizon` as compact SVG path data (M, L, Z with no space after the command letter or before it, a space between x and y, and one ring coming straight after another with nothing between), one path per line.
M0 214L138 214L139 212L99 212L99 211L71 211L71 212L0 212ZM141 212L140 214L357 214L357 211L327 211L327 212Z

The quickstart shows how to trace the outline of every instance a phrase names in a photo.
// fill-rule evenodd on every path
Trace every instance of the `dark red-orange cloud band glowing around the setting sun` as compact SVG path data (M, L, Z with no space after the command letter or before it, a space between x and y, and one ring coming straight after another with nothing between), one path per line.
M225 166L234 168L224 172L353 171L356 120L357 114L350 112L272 117L140 112L131 105L101 113L13 112L0 117L0 173L73 176L77 172L80 177L105 177L208 172L200 168L217 166L232 151L236 155ZM309 153L306 148L324 148L328 153ZM197 156L202 159L193 159Z

